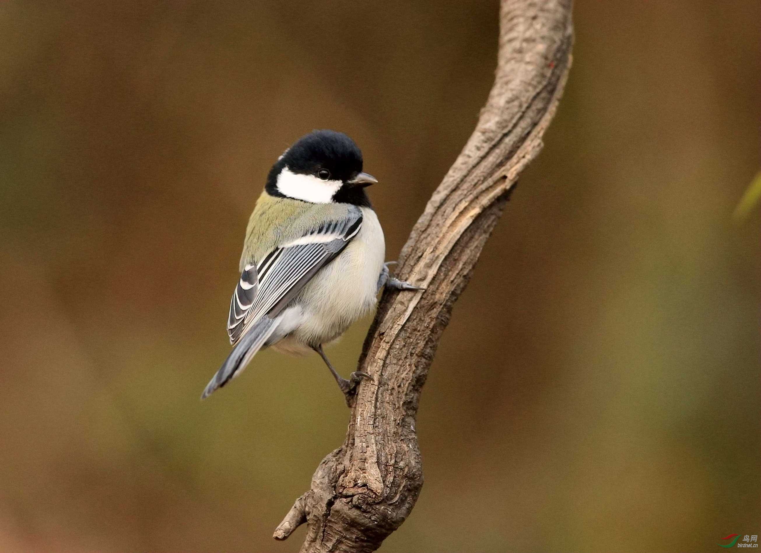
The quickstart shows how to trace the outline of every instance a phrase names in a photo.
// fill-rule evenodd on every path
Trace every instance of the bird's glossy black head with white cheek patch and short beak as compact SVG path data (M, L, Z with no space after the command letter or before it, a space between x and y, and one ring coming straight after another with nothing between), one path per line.
M377 183L362 173L362 152L335 131L304 135L279 157L267 177L266 191L312 203L349 203L370 207L365 186Z

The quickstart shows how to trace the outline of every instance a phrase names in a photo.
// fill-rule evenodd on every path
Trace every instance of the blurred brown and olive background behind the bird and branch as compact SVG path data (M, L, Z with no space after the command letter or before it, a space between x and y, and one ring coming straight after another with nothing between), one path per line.
M244 5L246 4L246 5ZM271 539L348 412L315 355L200 403L247 217L351 135L394 259L476 122L497 2L0 4L0 551ZM575 6L574 66L422 397L382 551L761 534L759 5ZM369 320L333 348L354 367Z

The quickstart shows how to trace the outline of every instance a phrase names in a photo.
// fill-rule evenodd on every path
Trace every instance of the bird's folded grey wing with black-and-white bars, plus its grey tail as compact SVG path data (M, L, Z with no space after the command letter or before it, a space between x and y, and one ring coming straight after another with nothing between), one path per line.
M310 278L342 252L361 224L361 211L352 209L346 218L326 222L273 249L256 266L246 265L230 303L228 334L235 347L202 398L246 367L275 331L279 313Z

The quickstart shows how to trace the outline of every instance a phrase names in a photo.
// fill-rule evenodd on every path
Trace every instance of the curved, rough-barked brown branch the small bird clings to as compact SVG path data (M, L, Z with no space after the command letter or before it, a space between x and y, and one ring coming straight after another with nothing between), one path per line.
M495 83L473 135L409 235L396 274L424 292L386 291L365 340L349 431L275 529L302 523L301 551L375 551L422 487L420 392L452 305L521 170L542 148L571 65L572 0L502 0Z

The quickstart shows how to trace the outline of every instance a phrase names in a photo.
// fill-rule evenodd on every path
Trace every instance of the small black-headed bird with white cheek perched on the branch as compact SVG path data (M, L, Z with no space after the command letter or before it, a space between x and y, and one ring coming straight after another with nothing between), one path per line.
M201 399L240 375L260 349L317 352L345 401L370 375L339 375L323 347L374 310L386 286L423 291L390 275L385 239L366 188L362 153L342 132L315 130L278 158L248 221L230 301L233 349Z

